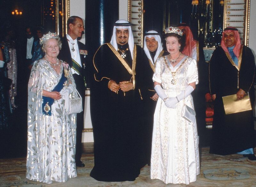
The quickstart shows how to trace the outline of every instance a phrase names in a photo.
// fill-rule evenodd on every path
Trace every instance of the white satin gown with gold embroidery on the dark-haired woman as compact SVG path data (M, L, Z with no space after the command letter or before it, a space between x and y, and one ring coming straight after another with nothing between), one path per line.
M153 80L161 83L168 97L176 97L189 83L198 83L196 61L185 56L173 68L168 56L161 57L156 62ZM184 101L194 108L191 95L178 102L174 109L167 108L164 101L158 98L154 114L151 179L160 179L164 183L189 184L196 181L199 175L196 121L189 123L181 117Z

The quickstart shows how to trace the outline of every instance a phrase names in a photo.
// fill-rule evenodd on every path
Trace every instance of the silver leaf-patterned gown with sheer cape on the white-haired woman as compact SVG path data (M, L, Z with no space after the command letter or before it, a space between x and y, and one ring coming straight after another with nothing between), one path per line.
M42 90L51 91L62 76L41 59L34 63L28 82L28 153L27 173L30 180L52 183L76 177L76 114L68 115L64 99L52 104L52 116L42 113ZM69 71L68 82L75 85ZM69 83L70 83L69 82ZM64 90L65 87L62 89ZM61 91L62 91L61 90ZM61 94L60 91L60 94Z

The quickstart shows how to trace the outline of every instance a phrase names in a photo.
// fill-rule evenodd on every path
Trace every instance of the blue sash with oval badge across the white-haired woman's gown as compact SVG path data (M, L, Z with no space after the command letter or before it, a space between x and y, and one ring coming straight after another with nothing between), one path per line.
M66 80L67 80L67 77L65 77L64 68L63 68L63 72L62 72L62 76L60 78L60 81L52 91L60 92L60 90L62 90L62 88L64 87L64 83L65 83ZM44 100L43 104L42 104L43 114L48 115L48 116L52 116L51 106L54 103L54 99L52 99L50 97L43 96L43 100Z

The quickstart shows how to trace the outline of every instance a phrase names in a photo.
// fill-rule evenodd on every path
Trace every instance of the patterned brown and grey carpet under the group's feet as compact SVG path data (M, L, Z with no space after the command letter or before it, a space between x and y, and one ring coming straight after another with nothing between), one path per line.
M234 154L228 156L211 155L209 148L201 150L201 174L197 181L185 184L169 184L168 186L254 186L256 187L256 162L244 158L242 155ZM41 186L141 186L162 187L167 186L158 179L150 179L150 167L141 169L140 176L133 182L99 182L90 177L93 167L93 154L83 155L82 161L85 168L78 168L78 176L69 179L66 183L53 182L45 184L26 179L26 159L1 159L0 160L0 187L41 187Z

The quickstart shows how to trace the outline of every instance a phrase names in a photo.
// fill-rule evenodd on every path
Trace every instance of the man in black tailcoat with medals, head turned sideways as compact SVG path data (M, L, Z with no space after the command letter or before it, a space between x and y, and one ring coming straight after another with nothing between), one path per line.
M80 93L83 99L85 99L86 88L86 65L85 57L87 51L85 45L77 38L82 37L84 33L84 22L82 18L78 16L71 16L68 18L68 34L61 40L62 47L58 58L68 63L70 70L73 74L76 83L76 89ZM84 167L84 163L81 161L82 155L82 131L84 129L84 110L77 114L76 121L76 166Z

